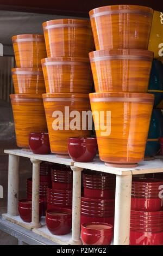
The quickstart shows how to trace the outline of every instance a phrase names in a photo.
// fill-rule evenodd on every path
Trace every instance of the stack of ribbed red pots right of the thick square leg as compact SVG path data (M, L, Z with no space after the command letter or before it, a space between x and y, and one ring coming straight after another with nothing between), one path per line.
M156 178L133 179L130 245L163 245L162 186Z

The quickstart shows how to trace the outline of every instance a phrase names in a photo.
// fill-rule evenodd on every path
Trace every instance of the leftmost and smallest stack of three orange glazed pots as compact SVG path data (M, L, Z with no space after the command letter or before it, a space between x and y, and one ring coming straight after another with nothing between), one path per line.
M30 133L47 132L42 93L45 82L41 58L46 57L43 35L22 34L12 37L17 68L12 69L16 94L11 94L17 146L29 148Z

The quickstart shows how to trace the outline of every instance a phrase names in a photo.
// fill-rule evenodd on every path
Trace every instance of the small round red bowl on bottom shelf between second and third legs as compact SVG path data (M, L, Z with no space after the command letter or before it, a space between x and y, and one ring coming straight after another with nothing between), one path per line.
M46 211L46 224L53 235L66 235L72 227L72 211L69 209L49 209Z

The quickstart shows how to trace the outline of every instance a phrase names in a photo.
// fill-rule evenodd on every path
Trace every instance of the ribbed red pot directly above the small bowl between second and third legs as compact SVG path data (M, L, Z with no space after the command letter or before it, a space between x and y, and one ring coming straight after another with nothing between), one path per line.
M47 189L47 209L72 209L72 190Z

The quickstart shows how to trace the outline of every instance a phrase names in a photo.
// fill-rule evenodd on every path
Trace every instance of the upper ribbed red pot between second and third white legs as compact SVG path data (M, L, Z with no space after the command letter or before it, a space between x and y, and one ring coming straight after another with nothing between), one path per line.
M51 169L52 188L72 190L72 170L70 166L58 165Z

